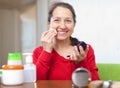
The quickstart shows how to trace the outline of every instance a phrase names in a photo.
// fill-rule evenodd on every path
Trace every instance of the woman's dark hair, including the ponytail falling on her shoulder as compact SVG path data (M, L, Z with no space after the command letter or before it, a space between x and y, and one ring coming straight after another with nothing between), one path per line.
M65 2L56 2L56 3L51 5L51 8L50 8L49 13L48 13L48 22L50 22L53 11L57 7L65 7L67 9L69 9L73 15L74 23L76 23L76 14L75 14L73 7L70 4L65 3ZM79 43L79 40L77 38L70 37L70 40L71 40L72 46L77 45Z

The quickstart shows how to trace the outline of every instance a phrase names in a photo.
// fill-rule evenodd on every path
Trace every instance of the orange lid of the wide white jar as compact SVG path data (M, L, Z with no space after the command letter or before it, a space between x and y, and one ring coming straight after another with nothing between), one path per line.
M23 65L3 65L3 70L20 70L23 69Z

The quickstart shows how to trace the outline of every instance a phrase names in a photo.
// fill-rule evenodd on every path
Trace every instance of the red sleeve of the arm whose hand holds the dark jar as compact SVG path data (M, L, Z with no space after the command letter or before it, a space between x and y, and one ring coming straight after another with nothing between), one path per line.
M90 45L89 45L89 51L87 55L87 67L91 72L92 80L100 80L100 77L98 74L98 67L95 62L94 50Z

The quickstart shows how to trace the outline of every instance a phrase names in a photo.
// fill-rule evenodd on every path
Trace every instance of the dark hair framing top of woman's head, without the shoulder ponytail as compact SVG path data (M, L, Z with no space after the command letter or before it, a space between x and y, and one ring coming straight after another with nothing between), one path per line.
M70 4L65 3L65 2L56 2L56 3L51 5L51 8L50 8L49 13L48 13L48 21L49 22L50 22L50 19L52 17L54 9L57 7L65 7L67 9L69 9L73 15L73 20L76 23L76 14L75 14L73 7Z

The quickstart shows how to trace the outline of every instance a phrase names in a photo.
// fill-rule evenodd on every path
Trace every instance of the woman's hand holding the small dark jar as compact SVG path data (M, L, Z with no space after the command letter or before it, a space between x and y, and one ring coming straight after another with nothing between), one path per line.
M74 46L72 55L70 56L70 59L75 61L76 64L80 63L84 60L84 58L87 55L89 45L87 45L87 48L84 50L82 46L79 46L80 52L78 51L77 46Z

